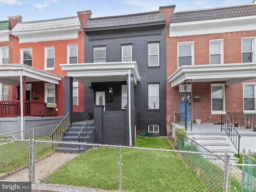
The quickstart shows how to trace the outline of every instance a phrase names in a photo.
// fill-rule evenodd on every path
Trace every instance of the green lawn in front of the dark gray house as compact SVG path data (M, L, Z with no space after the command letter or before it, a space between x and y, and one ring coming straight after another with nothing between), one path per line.
M171 149L166 138L139 137L136 147ZM119 190L119 154L119 148L92 148L42 182ZM122 190L209 191L176 153L129 148L122 148Z

